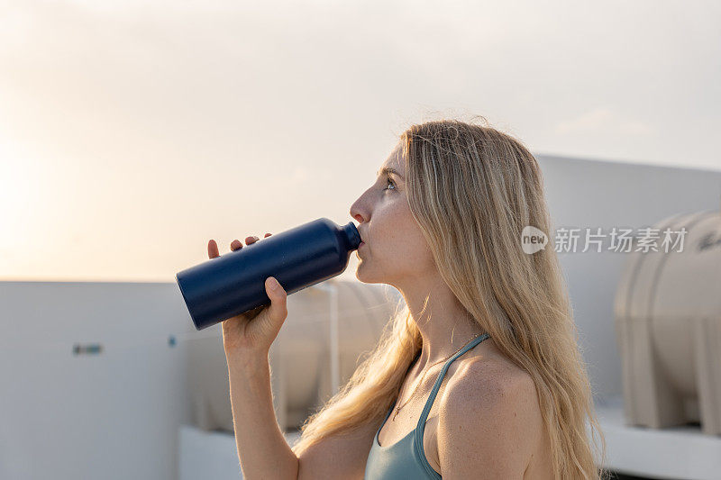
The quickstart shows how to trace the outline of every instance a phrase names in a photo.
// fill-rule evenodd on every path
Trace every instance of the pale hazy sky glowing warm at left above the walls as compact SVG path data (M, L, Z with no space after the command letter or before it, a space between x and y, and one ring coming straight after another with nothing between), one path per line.
M721 170L720 5L0 0L0 280L173 282L209 239L355 222L440 118Z

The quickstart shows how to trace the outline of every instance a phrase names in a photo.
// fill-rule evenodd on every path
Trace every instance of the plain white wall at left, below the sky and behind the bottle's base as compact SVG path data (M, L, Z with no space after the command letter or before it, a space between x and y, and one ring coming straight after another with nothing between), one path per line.
M0 478L177 478L195 330L177 285L0 282L0 305Z

